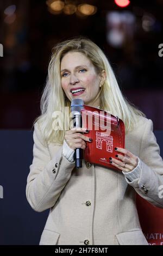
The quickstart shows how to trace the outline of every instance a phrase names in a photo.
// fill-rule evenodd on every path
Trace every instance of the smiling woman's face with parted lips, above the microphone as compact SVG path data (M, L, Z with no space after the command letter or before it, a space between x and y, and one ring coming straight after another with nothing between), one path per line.
M80 52L68 52L61 60L61 86L68 99L82 99L86 105L99 106L95 100L101 86L101 76L90 60Z

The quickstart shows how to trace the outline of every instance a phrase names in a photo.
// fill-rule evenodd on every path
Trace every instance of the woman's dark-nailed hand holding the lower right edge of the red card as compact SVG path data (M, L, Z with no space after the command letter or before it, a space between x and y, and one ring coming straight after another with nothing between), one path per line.
M123 153L124 156L117 154L116 159L114 159L113 157L109 157L110 163L113 166L117 167L120 170L123 170L123 172L131 172L131 170L133 170L137 166L139 159L130 151L123 148L115 148L115 151Z

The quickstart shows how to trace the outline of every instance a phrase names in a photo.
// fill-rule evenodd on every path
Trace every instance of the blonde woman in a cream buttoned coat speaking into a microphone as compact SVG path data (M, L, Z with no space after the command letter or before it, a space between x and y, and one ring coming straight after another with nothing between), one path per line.
M82 168L75 168L74 150L91 143L84 135L89 131L65 131L60 121L54 121L54 113L64 113L64 124L69 125L65 107L77 98L123 120L126 149L115 148L110 161L120 171L84 160ZM40 245L147 245L135 192L162 208L159 145L152 121L123 97L96 44L76 38L53 49L41 110L34 124L34 158L26 190L35 211L50 208Z

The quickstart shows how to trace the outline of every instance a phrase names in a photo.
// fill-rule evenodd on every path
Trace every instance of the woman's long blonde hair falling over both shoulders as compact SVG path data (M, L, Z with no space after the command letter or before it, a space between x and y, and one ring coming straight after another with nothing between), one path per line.
M65 130L54 129L53 112L61 111L65 115L65 122L68 122L67 114L70 112L67 113L64 110L65 107L70 109L71 102L61 87L60 64L65 54L70 51L83 53L95 66L98 73L105 70L106 79L97 95L101 102L100 108L122 119L126 133L134 130L137 116L146 117L146 115L122 95L111 65L101 48L91 40L79 37L60 42L52 49L46 86L43 89L40 102L41 115L34 121L34 124L36 122L39 124L43 140L47 143L57 144L62 144L64 141ZM67 125L69 127L69 124L66 124L66 127Z

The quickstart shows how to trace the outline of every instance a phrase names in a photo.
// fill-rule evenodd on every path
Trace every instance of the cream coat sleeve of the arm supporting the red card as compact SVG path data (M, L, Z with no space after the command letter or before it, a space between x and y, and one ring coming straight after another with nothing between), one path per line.
M163 208L163 161L160 148L153 133L153 122L147 121L140 146L140 172L130 181L135 191L149 203ZM140 174L139 174L140 173Z

